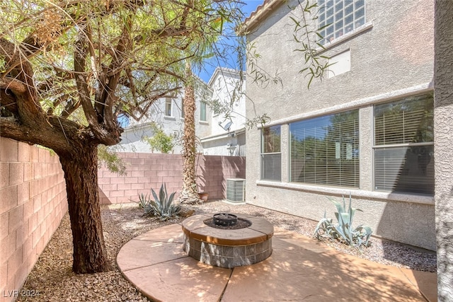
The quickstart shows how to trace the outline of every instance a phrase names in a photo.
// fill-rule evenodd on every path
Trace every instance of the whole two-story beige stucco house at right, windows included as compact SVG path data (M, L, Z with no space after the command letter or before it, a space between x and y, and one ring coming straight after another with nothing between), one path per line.
M309 88L290 18L302 20L299 1L266 0L246 19L258 64L282 81L247 71L247 115L272 120L246 133L246 202L335 220L327 197L351 194L355 225L435 250L434 1L318 4L314 26L331 24L318 52L336 64Z

